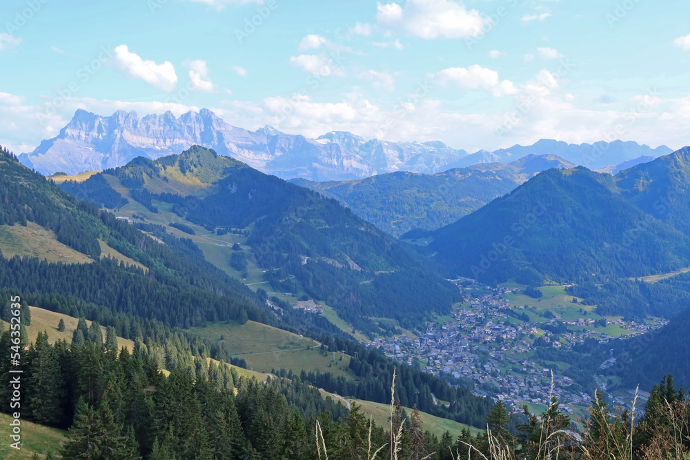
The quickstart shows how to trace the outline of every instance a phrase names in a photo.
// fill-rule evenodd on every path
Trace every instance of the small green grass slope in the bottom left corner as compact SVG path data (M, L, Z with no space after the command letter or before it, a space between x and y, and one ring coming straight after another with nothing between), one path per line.
M0 459L30 459L32 455L38 454L39 459L46 458L47 452L57 454L62 443L67 440L67 432L48 428L46 426L31 423L30 421L20 421L21 423L21 450L10 448L10 422L12 418L8 414L0 412Z

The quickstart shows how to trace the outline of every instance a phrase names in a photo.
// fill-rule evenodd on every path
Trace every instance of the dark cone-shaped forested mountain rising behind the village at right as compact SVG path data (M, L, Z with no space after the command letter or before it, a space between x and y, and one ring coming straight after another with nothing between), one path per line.
M551 169L433 233L454 274L523 283L640 277L690 265L690 240L621 196L615 179Z

